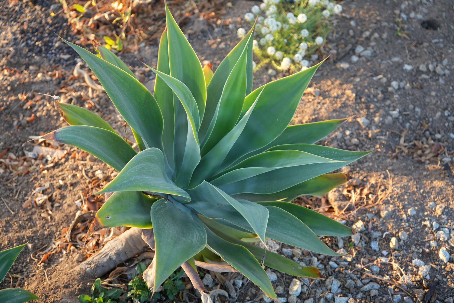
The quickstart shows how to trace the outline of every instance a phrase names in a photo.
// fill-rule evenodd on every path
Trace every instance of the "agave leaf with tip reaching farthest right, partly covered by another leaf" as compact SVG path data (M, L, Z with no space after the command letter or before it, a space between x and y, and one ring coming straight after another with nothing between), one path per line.
M338 162L326 162L307 164L294 167L279 168L271 172L265 172L255 177L233 182L223 186L219 186L224 192L229 195L240 194L244 192L269 194L280 192L287 188L293 187L296 184L310 180L314 177L332 172L336 169L344 167L353 161L364 157L370 152L350 152L341 149L336 149L327 146L313 144L288 144L275 146L269 151L277 150L299 150L308 152L320 157L326 157Z

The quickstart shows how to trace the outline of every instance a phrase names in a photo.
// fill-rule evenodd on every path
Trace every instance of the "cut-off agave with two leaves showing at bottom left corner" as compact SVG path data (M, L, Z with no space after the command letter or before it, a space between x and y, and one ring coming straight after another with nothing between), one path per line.
M13 266L17 256L19 256L25 244L5 249L0 252L0 282ZM5 288L0 290L0 302L24 303L30 300L38 300L39 297L28 290L21 288Z

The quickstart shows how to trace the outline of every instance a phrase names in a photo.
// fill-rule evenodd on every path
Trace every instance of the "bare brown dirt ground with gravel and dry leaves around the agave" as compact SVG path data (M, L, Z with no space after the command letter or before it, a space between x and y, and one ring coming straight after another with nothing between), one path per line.
M213 25L212 36L195 31L191 22L183 28L201 61L217 67L239 40L237 28L247 27L241 18L254 4L233 2L218 41L214 39L219 29L214 31ZM334 250L349 253L342 258L274 243L279 253L320 268L326 280L294 280L277 271L269 275L283 302L453 303L453 3L341 4L344 9L333 21L334 30L319 57L332 50L335 55L317 71L293 122L350 117L320 143L375 152L343 169L352 177L344 186L296 202L355 226L356 235L325 239ZM100 233L83 248L90 216L69 233L68 229L78 211L95 210L103 202L93 192L109 182L114 171L69 146L23 143L64 126L52 98L37 93L85 106L121 134L123 120L102 91L72 76L77 55L55 34L74 42L79 38L67 25L59 2L3 0L1 7L0 249L29 244L10 270L22 278L11 281L7 276L0 288L17 285L39 295L42 302L78 302L78 295L89 293L93 279L74 275L72 268L96 252L104 238L122 230ZM152 87L153 75L139 62L156 65L158 41L150 42L121 57ZM94 51L91 45L85 47ZM263 69L255 75L255 86L282 76ZM214 278L204 280L209 290L228 290L225 281L235 282L231 302L266 300L240 276L207 276ZM197 301L192 290L184 297ZM165 296L161 301L168 302Z

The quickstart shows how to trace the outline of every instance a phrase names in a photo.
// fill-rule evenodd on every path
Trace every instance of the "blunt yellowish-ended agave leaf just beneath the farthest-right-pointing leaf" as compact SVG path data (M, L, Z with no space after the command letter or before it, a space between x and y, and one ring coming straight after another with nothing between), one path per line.
M328 174L312 178L305 182L301 182L280 192L273 192L271 194L253 194L245 192L233 195L233 197L246 199L252 202L281 200L290 202L296 197L303 195L323 195L331 191L331 189L333 189L334 187L337 187L345 182L347 182L347 176L345 176L345 174Z

